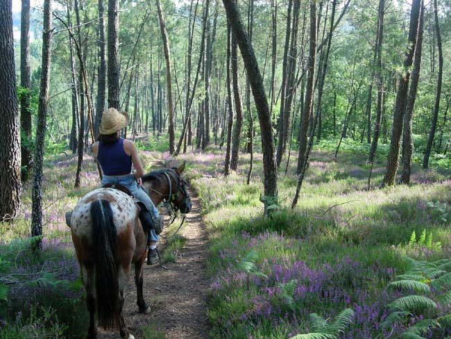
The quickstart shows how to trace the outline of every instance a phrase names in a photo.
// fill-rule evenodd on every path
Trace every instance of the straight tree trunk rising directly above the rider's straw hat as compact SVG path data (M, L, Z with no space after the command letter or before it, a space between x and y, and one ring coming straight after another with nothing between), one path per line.
M108 0L108 108L119 110L119 0Z

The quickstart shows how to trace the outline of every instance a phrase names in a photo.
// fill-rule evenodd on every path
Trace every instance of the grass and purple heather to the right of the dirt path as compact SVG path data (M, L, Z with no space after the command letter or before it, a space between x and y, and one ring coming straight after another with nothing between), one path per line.
M378 327L401 293L386 286L405 270L404 257L434 261L451 254L451 172L414 165L411 186L380 190L384 148L368 190L366 147L346 141L336 159L332 144L320 144L294 210L289 206L297 176L291 160L287 175L279 173L280 210L271 219L262 217L259 201L261 154L255 156L250 185L247 155L240 155L238 172L226 178L223 151L183 156L211 235L212 338L289 338L312 330L310 313L327 319L344 308L352 308L355 317L340 338L389 335ZM424 229L441 248L409 245L412 231ZM246 271L242 263L251 253L249 265L255 267ZM392 336L406 328L395 324ZM444 338L445 331L429 331L427 338Z

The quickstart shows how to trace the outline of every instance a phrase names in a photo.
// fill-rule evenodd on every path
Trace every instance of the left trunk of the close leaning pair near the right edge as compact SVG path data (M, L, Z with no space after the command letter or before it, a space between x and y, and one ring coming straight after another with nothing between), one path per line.
M382 185L393 185L399 165L400 138L402 133L402 117L407 102L407 90L409 88L410 67L414 59L416 35L418 32L418 17L420 14L421 0L413 0L410 13L409 41L404 61L404 70L400 75L398 92L396 93L395 108L393 109L393 129L391 131L391 143L389 157L386 164L386 172Z

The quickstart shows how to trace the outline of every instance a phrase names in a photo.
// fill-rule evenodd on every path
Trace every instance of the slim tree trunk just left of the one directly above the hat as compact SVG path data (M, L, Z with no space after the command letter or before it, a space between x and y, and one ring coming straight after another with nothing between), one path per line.
M106 87L106 60L105 60L105 24L103 22L103 0L99 0L99 67L97 83L96 119L94 122L94 133L99 133L102 113L105 110L105 87Z

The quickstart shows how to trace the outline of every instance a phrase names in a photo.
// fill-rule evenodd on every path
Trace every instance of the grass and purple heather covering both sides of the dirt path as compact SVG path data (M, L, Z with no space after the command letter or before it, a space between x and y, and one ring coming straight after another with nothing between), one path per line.
M169 157L158 151L165 149L164 140L137 142L146 171ZM334 158L334 145L321 142L314 148L294 210L289 206L296 189L296 154L286 175L284 158L278 179L280 210L272 219L262 217L259 201L262 154L255 154L250 185L246 185L246 154L240 154L238 172L226 178L222 176L224 150L212 147L180 156L187 160L185 176L198 192L210 233L207 315L212 338L289 338L311 330L310 313L332 319L344 308L352 308L355 318L340 338L377 338L381 334L377 326L389 314L387 305L402 293L386 286L405 270L403 256L428 261L451 256L448 165L439 167L437 160L425 170L414 164L411 186L380 190L386 160L382 145L368 190L367 147L345 140ZM440 161L447 164L448 158ZM99 186L99 179L89 155L76 189L75 172L76 156L46 156L40 256L12 245L30 233L31 183L24 185L19 218L13 224L0 224L0 278L28 277L23 279L26 283L10 288L6 300L1 300L0 290L0 333L10 333L4 338L21 338L16 332L22 327L55 333L54 338L61 331L65 338L85 336L87 310L83 288L75 287L78 264L64 215L81 196ZM169 233L175 228L171 226ZM440 247L409 244L411 233L420 235L423 230L432 233ZM169 238L164 261L176 261L185 241L179 234ZM44 274L47 271L50 277ZM40 286L33 280L39 280ZM35 315L19 312L29 305L35 306ZM392 337L406 324L396 326ZM158 324L148 324L142 331L144 338L164 338ZM451 334L440 331L431 331L427 338Z

